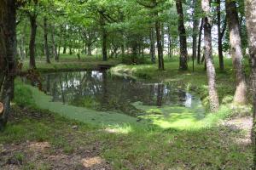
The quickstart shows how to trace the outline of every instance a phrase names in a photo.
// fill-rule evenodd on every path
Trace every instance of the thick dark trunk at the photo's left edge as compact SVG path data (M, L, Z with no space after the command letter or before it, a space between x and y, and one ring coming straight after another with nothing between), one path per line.
M0 1L0 129L6 125L10 112L10 100L14 94L16 54L16 3L15 0Z

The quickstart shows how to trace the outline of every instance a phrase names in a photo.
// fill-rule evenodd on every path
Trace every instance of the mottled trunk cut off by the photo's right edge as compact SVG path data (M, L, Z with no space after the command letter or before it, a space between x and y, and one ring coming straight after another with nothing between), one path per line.
M247 35L250 59L252 60L251 81L253 87L253 130L252 142L254 144L254 168L256 169L256 0L246 1L246 14L247 14Z

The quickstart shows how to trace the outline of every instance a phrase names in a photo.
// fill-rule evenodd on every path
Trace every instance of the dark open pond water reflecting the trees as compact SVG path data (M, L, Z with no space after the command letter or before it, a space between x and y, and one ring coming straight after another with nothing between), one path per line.
M186 110L193 110L197 118L205 115L199 97L163 83L112 77L108 71L58 72L42 77L46 94L66 105L129 116L181 114Z

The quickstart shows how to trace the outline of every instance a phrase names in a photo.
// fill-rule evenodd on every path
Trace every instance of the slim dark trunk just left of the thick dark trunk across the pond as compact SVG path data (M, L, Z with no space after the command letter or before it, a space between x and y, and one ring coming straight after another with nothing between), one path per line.
M158 53L158 69L160 71L165 70L164 57L163 57L163 47L160 33L160 21L155 21L155 31L156 31L156 42L157 42L157 53Z

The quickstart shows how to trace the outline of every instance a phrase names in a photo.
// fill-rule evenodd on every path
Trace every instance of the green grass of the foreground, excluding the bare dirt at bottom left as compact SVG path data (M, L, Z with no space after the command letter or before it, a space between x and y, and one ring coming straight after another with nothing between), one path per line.
M110 162L113 169L250 169L253 153L250 145L238 143L242 131L229 127L207 127L197 130L141 131L108 133L102 128L88 126L38 111L40 119L30 116L9 122L0 133L1 144L20 144L29 141L47 141L51 150L63 150L72 155L81 147L90 148L97 144L100 156ZM73 130L73 125L78 130ZM26 159L18 152L18 158ZM42 162L40 162L42 163ZM47 162L46 162L47 163ZM39 164L26 161L22 167Z

